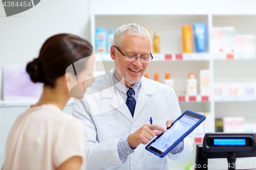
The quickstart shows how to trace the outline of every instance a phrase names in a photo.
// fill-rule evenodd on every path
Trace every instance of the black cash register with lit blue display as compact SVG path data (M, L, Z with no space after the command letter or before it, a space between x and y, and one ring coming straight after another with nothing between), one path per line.
M208 160L214 158L227 159L225 167L229 170L236 169L237 158L255 157L256 160L255 141L255 133L206 133L203 144L197 144L195 169L224 169L217 164L208 165ZM245 169L256 169L256 161L248 163L243 164Z

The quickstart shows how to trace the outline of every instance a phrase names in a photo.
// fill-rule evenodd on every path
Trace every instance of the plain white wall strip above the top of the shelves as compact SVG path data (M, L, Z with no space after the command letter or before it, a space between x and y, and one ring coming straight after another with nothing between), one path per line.
M254 0L91 0L97 14L256 14Z

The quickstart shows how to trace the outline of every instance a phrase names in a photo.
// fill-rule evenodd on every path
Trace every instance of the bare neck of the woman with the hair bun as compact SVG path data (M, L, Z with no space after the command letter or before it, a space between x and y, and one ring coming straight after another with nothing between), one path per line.
M65 107L70 98L69 93L67 94L65 90L63 90L63 88L61 87L52 88L50 86L45 85L40 100L37 102L37 104L33 106L53 104L61 110L63 110L63 108Z

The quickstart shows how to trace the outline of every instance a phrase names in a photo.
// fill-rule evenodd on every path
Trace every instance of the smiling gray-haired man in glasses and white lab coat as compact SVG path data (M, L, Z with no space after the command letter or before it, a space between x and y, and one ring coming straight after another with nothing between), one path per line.
M148 32L135 23L118 28L111 46L115 68L75 101L73 115L86 136L87 169L147 169L149 163L166 163L166 157L147 152L145 144L165 131L181 110L172 88L143 77L153 58L151 44ZM167 155L182 161L192 150L187 136Z

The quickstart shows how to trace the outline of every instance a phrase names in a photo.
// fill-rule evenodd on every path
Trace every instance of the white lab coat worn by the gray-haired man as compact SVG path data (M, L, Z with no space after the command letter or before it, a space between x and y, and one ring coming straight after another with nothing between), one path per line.
M119 92L116 91L112 72L96 87L87 89L83 99L75 100L73 116L81 120L86 141L88 169L150 169L160 165L168 169L166 157L160 158L140 144L127 159L119 159L117 141L130 135L144 124L166 128L166 120L181 114L175 91L164 84L142 77L141 88L132 117ZM168 157L174 161L186 160L193 150L190 135L184 138L184 150Z

